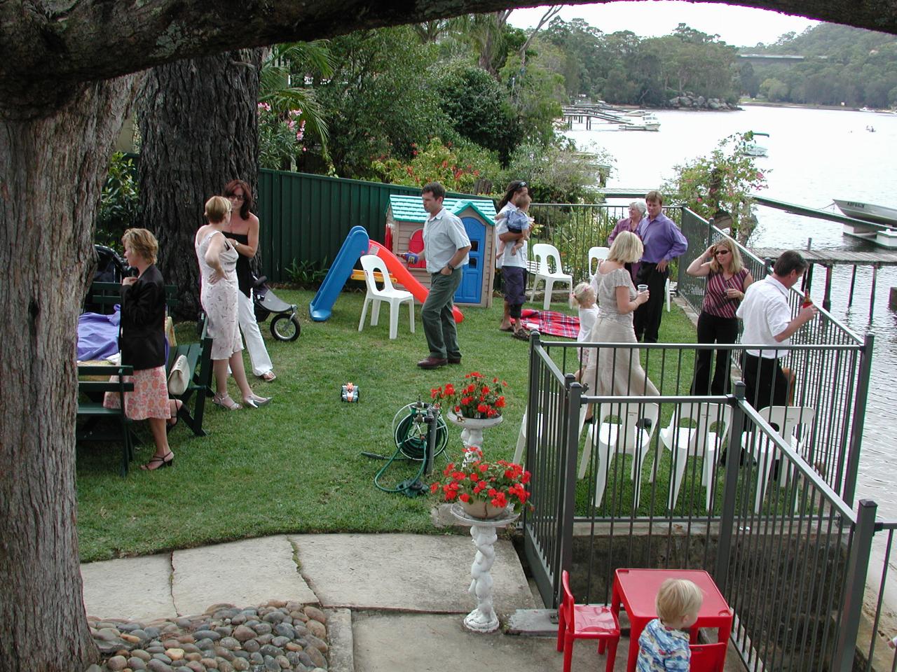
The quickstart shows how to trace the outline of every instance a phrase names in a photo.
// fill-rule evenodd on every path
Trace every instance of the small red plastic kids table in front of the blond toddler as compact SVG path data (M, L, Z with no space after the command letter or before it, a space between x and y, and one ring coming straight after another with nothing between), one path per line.
M657 618L654 608L660 584L666 579L688 579L704 593L698 620L692 625L691 640L697 641L698 628L717 628L718 642L726 642L732 631L732 609L723 599L710 574L700 569L618 569L614 575L611 609L619 618L620 605L629 616L629 659L626 672L634 672L639 657L639 636L649 621Z

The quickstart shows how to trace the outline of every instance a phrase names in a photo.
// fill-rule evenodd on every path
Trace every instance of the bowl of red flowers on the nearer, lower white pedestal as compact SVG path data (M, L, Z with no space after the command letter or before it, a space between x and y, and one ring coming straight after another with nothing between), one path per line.
M529 479L519 464L484 461L483 452L474 446L466 450L463 462L448 463L430 491L445 502L459 502L470 516L489 519L528 505Z

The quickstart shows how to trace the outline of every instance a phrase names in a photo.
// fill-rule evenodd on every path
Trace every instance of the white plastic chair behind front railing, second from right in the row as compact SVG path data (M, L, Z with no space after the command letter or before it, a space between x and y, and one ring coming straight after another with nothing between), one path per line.
M703 457L701 485L707 489L706 510L710 511L710 495L713 479L713 465L725 444L732 409L726 404L684 403L676 407L670 424L660 430L660 443L672 455L673 482L668 500L669 508L675 508L679 499L679 489L685 473L685 463L689 457ZM683 423L688 423L684 426ZM694 426L691 426L693 423ZM715 429L714 429L715 427ZM650 481L654 482L655 472L651 471Z

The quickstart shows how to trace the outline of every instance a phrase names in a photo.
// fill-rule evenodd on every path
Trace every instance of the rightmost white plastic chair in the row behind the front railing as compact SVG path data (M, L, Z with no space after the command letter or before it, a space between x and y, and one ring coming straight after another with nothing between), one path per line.
M770 425L779 426L779 435L791 445L797 454L806 459L805 445L816 415L815 409L809 406L767 406L758 410L757 414ZM798 438L795 434L798 427L802 438ZM753 510L755 513L760 513L764 486L770 479L772 465L776 461L776 455L772 454L776 452L775 446L759 432L755 432L753 434L745 433L742 436L742 448L746 448L753 460L757 462L757 493L754 496ZM783 459L779 464L779 487L788 482L790 472L791 470L787 468Z

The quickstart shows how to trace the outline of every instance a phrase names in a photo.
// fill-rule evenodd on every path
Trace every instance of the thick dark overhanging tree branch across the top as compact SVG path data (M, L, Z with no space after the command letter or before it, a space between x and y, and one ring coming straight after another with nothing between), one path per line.
M570 4L579 2L593 0L572 0ZM508 0L418 4L368 0L6 0L0 3L0 99L12 113L40 115L71 98L82 82L181 58L532 4ZM894 0L730 0L729 4L897 33Z

